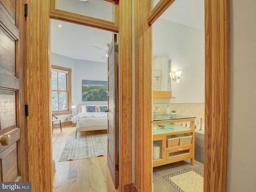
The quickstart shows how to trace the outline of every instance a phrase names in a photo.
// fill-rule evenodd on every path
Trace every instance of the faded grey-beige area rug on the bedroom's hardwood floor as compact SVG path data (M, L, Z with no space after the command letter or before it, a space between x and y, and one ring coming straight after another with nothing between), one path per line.
M106 156L107 142L107 134L69 137L59 162Z

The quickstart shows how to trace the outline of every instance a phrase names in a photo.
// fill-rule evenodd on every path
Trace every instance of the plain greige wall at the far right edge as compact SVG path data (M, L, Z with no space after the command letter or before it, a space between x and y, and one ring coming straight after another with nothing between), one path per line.
M256 1L230 0L228 192L255 191Z

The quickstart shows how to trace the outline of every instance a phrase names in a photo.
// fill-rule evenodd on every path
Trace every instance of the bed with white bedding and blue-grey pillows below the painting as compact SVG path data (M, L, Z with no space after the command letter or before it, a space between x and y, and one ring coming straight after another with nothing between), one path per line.
M78 131L108 129L107 109L107 105L78 105L78 114L71 119L76 123L76 135Z

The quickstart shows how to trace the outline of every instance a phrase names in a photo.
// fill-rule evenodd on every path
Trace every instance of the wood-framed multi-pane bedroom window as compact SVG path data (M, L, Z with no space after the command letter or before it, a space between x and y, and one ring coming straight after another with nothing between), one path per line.
M52 65L52 112L71 110L71 69Z

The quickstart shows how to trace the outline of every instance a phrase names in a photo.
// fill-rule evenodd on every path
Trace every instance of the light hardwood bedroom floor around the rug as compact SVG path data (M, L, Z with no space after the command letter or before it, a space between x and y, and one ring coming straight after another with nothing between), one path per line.
M52 152L56 167L53 192L118 192L108 169L107 156L58 162L67 138L73 137L75 130L75 127L64 127L62 132L59 128L53 131ZM106 130L81 135L103 133Z

